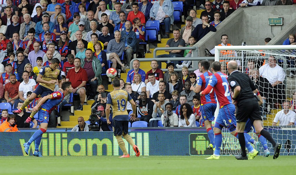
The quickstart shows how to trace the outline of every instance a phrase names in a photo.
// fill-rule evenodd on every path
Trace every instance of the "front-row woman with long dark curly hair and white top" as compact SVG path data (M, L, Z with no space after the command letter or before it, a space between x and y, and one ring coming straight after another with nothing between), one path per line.
M182 112L179 118L179 127L196 127L193 110L188 103L181 105Z

